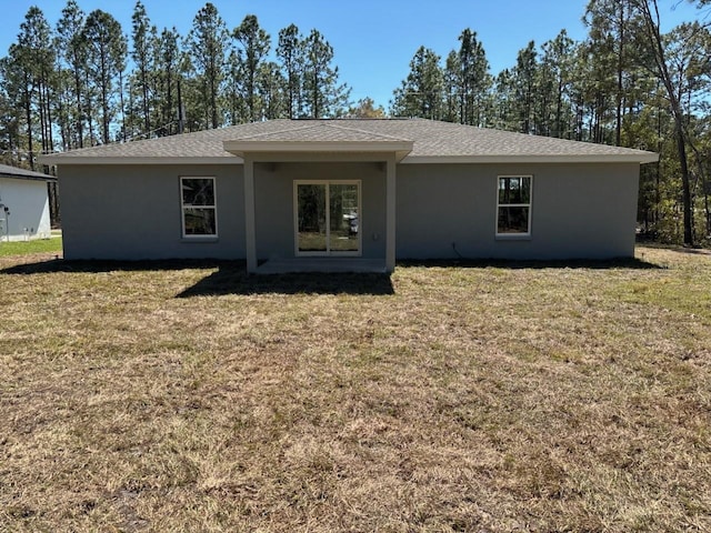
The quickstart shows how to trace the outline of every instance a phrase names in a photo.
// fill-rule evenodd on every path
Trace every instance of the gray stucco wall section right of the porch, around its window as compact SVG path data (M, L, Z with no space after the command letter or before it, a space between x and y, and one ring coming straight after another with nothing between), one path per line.
M495 235L498 175L510 174L533 177L530 238ZM638 188L637 163L400 164L397 257L632 257Z

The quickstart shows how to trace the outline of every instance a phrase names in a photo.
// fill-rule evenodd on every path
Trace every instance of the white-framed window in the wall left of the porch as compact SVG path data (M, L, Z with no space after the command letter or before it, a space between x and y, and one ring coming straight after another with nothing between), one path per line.
M183 237L217 237L214 178L180 178Z

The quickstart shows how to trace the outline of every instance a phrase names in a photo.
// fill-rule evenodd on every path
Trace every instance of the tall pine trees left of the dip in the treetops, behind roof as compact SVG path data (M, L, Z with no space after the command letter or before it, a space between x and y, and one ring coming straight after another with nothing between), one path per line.
M273 118L337 117L350 89L318 30L272 39L248 14L230 29L214 4L187 36L151 23L136 2L130 38L100 9L69 0L54 27L29 9L0 59L0 148L33 165L38 152L170 135ZM130 69L129 69L130 66Z

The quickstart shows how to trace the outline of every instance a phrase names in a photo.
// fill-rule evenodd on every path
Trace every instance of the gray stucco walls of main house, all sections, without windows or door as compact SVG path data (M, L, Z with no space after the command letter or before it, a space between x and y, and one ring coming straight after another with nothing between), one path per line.
M531 235L495 235L498 175L532 175ZM218 238L184 239L180 177L217 179ZM360 180L362 257L385 255L383 163L254 163L257 257L294 257L294 180ZM67 259L244 259L241 165L61 165ZM397 258L632 257L639 164L398 164ZM452 247L454 243L455 249Z

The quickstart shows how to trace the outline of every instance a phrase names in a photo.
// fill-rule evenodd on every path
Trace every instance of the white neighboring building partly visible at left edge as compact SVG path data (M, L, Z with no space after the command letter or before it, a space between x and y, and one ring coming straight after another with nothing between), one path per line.
M56 180L51 175L0 164L0 241L50 237L47 183Z

